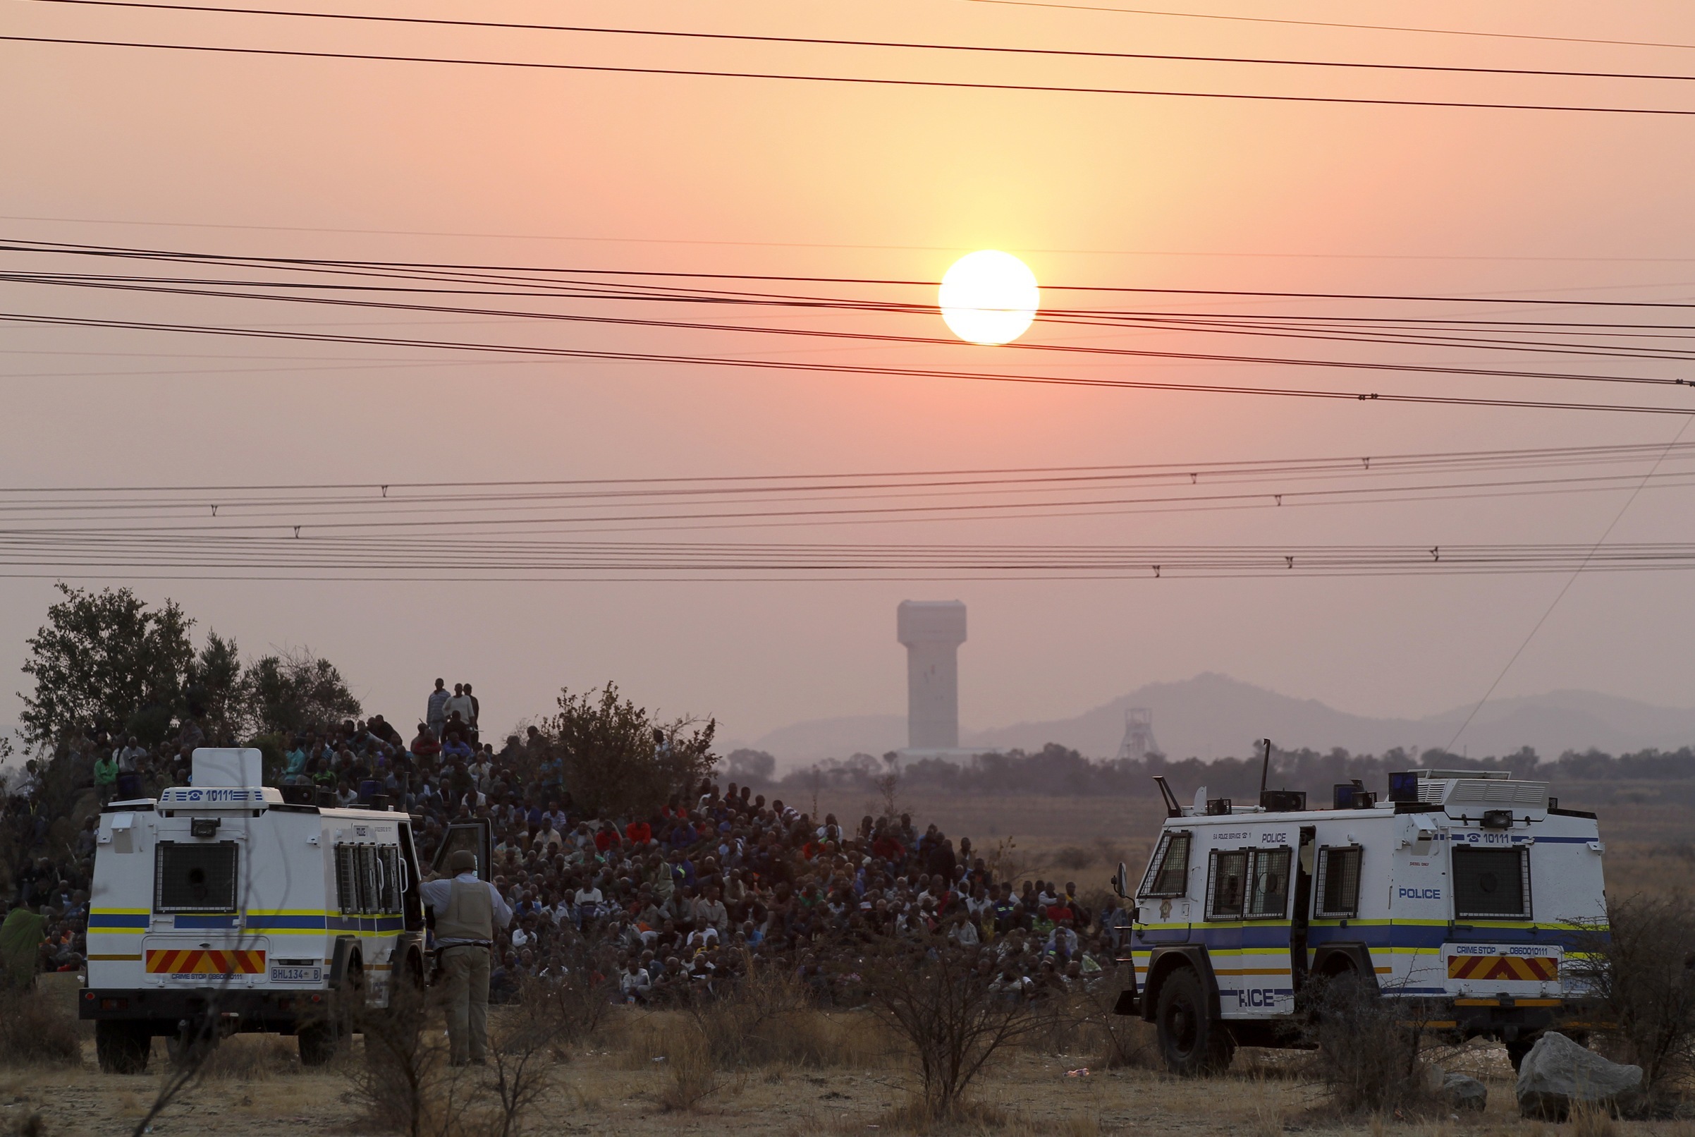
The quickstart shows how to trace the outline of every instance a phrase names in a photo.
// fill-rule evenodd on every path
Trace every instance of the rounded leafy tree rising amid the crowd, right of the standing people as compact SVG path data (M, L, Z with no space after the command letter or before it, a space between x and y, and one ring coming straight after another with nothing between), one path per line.
M617 683L598 695L561 690L559 713L547 727L573 796L600 815L651 813L673 793L692 793L719 761L712 752L715 722L656 722L646 708L620 700Z

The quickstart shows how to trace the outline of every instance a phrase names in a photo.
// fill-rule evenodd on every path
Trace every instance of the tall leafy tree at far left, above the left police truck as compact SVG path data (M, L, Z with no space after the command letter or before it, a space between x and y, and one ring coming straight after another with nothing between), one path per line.
M19 691L25 737L51 744L76 727L164 737L183 707L193 620L171 600L149 608L129 588L58 590L64 598L25 641L24 674L36 679L32 695Z

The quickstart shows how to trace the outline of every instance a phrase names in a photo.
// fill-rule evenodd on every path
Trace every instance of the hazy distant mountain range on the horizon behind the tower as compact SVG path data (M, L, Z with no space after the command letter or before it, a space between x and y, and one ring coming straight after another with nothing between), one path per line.
M1159 749L1173 759L1242 757L1256 739L1270 737L1280 749L1341 746L1356 754L1381 754L1400 746L1425 751L1448 746L1471 707L1424 718L1370 718L1349 715L1312 698L1292 698L1224 674L1197 674L1178 683L1149 683L1075 718L1020 722L990 730L968 730L966 746L1041 749L1048 742L1112 757L1124 739L1124 712L1146 707ZM900 715L861 715L802 722L764 735L756 746L785 768L854 751L881 754L905 746ZM1454 749L1473 756L1510 754L1529 746L1542 757L1590 747L1612 754L1646 747L1676 749L1695 744L1695 708L1654 707L1595 691L1549 691L1493 700L1478 712Z

